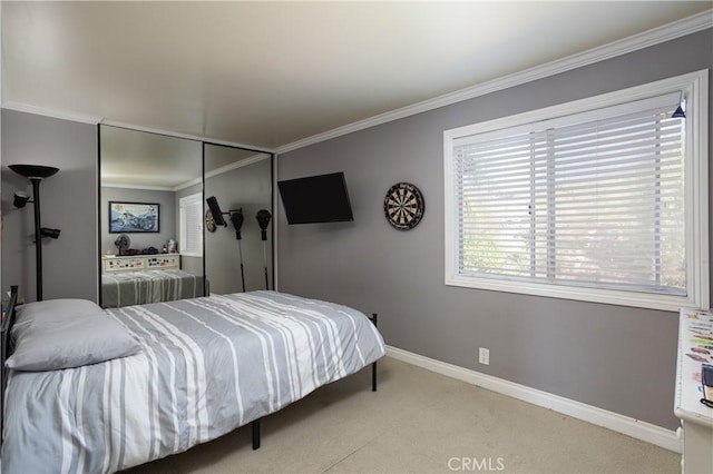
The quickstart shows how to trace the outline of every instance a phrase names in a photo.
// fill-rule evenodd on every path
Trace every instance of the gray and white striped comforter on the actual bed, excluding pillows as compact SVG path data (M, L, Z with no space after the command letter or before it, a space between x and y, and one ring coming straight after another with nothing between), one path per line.
M384 355L363 314L274 292L107 312L143 352L11 372L4 474L115 472L182 452Z

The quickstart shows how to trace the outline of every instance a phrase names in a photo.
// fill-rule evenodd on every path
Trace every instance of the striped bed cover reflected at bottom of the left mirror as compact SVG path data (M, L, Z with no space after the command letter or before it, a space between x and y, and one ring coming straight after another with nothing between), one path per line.
M101 306L118 308L203 296L203 277L179 269L101 275Z

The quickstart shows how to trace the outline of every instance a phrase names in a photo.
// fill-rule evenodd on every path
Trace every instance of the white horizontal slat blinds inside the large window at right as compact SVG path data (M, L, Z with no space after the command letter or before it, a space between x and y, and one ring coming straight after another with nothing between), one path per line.
M680 97L453 140L459 275L685 295Z

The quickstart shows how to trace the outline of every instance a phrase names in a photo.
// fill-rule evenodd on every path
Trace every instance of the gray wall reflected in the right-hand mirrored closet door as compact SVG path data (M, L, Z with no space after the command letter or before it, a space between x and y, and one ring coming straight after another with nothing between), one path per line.
M206 150L207 159L207 150ZM243 208L241 247L245 275L245 289L265 289L265 258L263 241L255 214L272 208L272 161L263 159L205 180L205 196L215 196L221 210ZM207 206L206 206L207 209ZM272 213L272 210L271 210ZM228 219L227 216L224 216ZM205 273L211 283L211 293L242 292L241 259L235 228L218 227L215 233L205 233ZM272 283L272 225L267 228L267 279Z

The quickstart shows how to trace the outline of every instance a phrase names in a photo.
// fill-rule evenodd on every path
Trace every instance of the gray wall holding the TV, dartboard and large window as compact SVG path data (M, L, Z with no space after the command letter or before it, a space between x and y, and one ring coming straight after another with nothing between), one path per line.
M280 290L378 312L391 346L675 429L676 314L445 286L442 132L711 68L712 45L706 30L281 155L279 179L344 171L354 221L289 226L277 205ZM407 233L383 217L398 181L426 198Z

